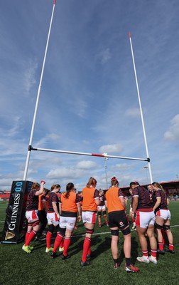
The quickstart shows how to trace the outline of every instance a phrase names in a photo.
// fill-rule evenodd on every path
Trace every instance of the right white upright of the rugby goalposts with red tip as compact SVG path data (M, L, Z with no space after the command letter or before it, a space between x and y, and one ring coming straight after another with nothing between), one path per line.
M132 56L132 61L133 61L133 65L134 65L134 73L135 73L135 78L136 78L136 88L137 88L137 93L138 93L138 98L139 98L139 107L140 107L140 112L141 112L141 123L142 123L142 128L143 128L143 137L144 137L144 141L145 141L145 145L146 145L146 155L148 157L148 170L149 170L149 175L150 175L150 179L151 179L151 183L152 183L153 178L152 178L152 173L151 173L151 163L150 163L150 158L149 158L149 154L148 154L146 130L145 130L145 125L144 125L144 121L143 121L143 112L142 112L142 108L141 108L141 98L140 98L140 93L139 93L139 85L138 85L138 80L137 80L137 75L136 75L136 66L135 66L135 61L134 61L134 52L133 52L133 47L132 47L132 42L131 42L131 33L130 32L129 32L129 41L130 41L130 45L131 45L131 56Z

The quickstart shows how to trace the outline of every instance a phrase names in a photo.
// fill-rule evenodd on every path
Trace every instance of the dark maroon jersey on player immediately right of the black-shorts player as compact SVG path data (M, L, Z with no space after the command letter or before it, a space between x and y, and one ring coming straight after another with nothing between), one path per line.
M148 209L153 207L150 193L145 187L138 186L132 190L133 197L139 197L137 209Z

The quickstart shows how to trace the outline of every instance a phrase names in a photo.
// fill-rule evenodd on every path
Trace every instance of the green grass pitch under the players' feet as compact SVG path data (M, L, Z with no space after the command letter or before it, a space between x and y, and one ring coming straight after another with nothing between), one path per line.
M0 203L0 234L2 233L7 203ZM171 225L179 224L179 202L170 202L172 214ZM128 204L129 209L129 204ZM104 221L103 221L104 222ZM94 258L92 265L81 267L82 244L85 229L82 223L75 230L69 253L71 258L61 260L60 257L50 259L50 254L45 254L45 241L32 242L35 246L31 254L23 252L21 244L1 244L0 262L1 274L0 284L3 285L158 285L179 284L178 275L178 252L179 252L179 227L171 227L175 243L175 254L166 253L158 257L158 264L141 264L136 257L141 254L139 240L136 231L132 236L132 262L140 267L139 274L127 274L124 270L124 252L122 250L123 237L119 234L119 257L121 266L114 270L114 263L110 249L111 234L106 225L101 229L96 225L92 237L92 252Z

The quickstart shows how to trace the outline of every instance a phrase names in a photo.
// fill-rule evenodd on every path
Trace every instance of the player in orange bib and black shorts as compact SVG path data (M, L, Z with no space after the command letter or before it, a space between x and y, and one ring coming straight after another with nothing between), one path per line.
M119 188L119 182L116 177L112 177L112 186L106 192L107 209L109 214L109 227L112 232L112 257L114 259L114 269L119 269L118 257L118 241L119 230L121 230L124 237L124 255L126 264L124 269L127 272L138 272L139 268L131 264L131 230L129 222L126 219L126 203L124 195Z

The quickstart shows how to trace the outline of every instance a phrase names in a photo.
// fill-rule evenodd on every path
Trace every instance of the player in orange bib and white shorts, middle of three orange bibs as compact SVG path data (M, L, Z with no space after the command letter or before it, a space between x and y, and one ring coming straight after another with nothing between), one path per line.
M100 203L99 192L96 189L97 180L90 177L87 186L82 190L82 222L84 223L86 234L83 243L81 266L90 265L91 261L91 239L94 232L94 225L97 220L97 206Z

